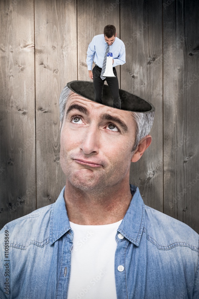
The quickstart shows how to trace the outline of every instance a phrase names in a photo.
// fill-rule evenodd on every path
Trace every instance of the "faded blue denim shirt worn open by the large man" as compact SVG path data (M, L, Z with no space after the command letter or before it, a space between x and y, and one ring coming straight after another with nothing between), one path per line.
M198 234L144 205L138 187L130 188L133 197L115 236L117 298L198 299ZM0 232L0 298L67 299L72 239L64 188L52 205L5 225Z

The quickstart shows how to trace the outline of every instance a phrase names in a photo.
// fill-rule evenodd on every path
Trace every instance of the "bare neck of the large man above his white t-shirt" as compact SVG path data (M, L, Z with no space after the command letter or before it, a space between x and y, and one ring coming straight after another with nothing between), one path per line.
M68 218L80 225L104 225L120 221L131 199L128 182L95 194L79 190L67 181L64 191Z

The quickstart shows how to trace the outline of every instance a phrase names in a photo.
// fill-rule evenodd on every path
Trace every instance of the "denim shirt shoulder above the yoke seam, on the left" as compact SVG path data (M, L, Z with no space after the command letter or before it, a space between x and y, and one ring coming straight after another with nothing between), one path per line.
M8 222L0 231L0 239L4 232L9 232L9 244L12 247L25 249L31 242L40 244L50 234L50 214L54 204L39 208L30 214Z

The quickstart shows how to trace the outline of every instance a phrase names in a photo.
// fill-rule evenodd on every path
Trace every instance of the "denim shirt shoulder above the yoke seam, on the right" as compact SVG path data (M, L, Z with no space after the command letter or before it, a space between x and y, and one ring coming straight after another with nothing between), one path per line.
M144 230L159 249L187 246L198 252L199 235L185 223L145 206Z

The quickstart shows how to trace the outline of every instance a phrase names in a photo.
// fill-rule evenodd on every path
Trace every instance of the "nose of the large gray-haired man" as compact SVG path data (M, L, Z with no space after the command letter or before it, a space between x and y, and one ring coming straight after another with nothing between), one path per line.
M91 153L97 154L99 152L99 130L95 126L89 126L83 135L81 149L84 154L89 155Z

